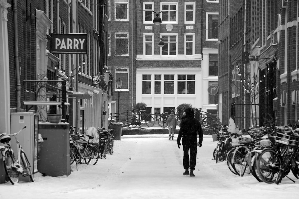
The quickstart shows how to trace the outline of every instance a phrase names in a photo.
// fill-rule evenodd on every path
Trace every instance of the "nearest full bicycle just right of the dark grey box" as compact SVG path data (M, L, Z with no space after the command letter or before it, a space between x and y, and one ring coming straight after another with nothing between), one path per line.
M78 160L78 163L82 164L85 162L88 165L95 165L100 155L97 146L89 143L89 140L94 137L86 135L88 137L88 140L86 141L84 138L85 134L75 131L74 127L70 127L70 135L73 139L71 150L74 153L75 158Z

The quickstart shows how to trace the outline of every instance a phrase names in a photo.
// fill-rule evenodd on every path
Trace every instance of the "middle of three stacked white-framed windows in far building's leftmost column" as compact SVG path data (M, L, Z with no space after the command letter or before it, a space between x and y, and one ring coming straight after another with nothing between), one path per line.
M129 56L129 33L115 34L115 55Z

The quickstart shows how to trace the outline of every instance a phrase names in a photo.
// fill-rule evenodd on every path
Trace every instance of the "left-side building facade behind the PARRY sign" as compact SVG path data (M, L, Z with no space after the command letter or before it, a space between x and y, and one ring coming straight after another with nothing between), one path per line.
M66 80L65 119L77 128L102 127L108 120L102 112L108 109L111 94L93 84L94 74L106 72L107 0L1 0L1 84L5 93L1 105L6 118L3 127L9 132L10 112L22 112L28 101L62 101L61 82L47 84L24 80ZM51 51L51 34L84 33L87 52L65 54ZM101 50L100 50L101 47ZM111 87L109 87L111 90ZM84 95L85 94L85 95ZM30 106L29 106L30 107ZM28 108L29 108L28 107ZM47 121L48 113L62 113L60 106L34 105L30 111ZM2 118L1 118L2 120ZM2 126L2 125L1 125Z

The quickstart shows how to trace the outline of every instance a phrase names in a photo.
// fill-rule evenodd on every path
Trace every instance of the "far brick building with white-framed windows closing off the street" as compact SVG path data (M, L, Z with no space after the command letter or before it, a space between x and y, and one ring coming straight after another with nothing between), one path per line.
M113 6L120 4L128 6L129 18L117 18ZM153 23L156 13L160 25ZM183 103L217 113L218 97L209 95L208 87L218 86L218 1L112 0L110 23L108 64L115 80L125 84L120 90L120 112L130 112L143 102L151 114L170 112ZM118 39L127 42L127 54L115 56ZM163 47L158 46L160 40ZM117 104L114 95L112 112Z

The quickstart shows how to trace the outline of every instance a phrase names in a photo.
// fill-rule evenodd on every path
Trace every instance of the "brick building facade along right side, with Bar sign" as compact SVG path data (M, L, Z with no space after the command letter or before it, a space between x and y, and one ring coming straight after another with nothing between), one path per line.
M299 98L298 2L221 1L219 40L222 123L234 117L239 128L270 121L294 124Z

